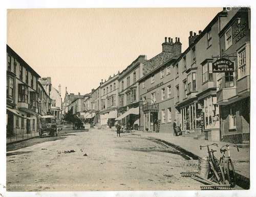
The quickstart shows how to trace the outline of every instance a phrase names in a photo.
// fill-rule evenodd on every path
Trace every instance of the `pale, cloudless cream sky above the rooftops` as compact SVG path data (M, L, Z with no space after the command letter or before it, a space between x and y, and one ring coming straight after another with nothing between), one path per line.
M139 55L161 53L164 37L203 30L222 8L9 9L7 44L41 77L90 93Z

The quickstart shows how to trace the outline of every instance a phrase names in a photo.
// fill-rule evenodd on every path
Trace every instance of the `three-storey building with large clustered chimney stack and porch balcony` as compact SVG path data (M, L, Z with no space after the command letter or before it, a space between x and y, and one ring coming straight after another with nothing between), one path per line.
M143 77L139 80L140 126L143 130L156 131L160 121L161 132L173 132L175 117L172 64L181 54L180 39L165 37L162 52L143 64Z

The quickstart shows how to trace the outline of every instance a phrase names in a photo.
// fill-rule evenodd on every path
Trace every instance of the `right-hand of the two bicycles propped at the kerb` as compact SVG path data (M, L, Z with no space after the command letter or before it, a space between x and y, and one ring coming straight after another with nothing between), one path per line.
M227 180L230 184L230 187L236 186L236 174L234 173L234 166L230 157L230 152L229 152L229 146L232 145L234 147L237 147L237 150L239 152L239 148L235 144L226 144L223 145L220 149L220 152L223 154L220 158L219 165L223 169L223 179L226 181L225 175L227 177ZM227 149L223 149L223 147L227 147ZM228 156L225 155L226 151L228 152Z

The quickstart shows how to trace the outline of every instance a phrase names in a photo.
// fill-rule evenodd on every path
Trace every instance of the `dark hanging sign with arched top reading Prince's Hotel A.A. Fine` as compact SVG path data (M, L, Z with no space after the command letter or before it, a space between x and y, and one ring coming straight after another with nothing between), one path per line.
M226 58L221 58L212 63L212 72L233 72L234 63Z

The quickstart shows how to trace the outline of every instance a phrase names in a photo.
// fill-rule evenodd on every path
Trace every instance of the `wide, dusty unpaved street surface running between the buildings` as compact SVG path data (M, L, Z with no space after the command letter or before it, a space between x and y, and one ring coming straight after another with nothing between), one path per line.
M200 190L203 184L180 175L197 165L136 132L66 128L7 145L7 191Z

